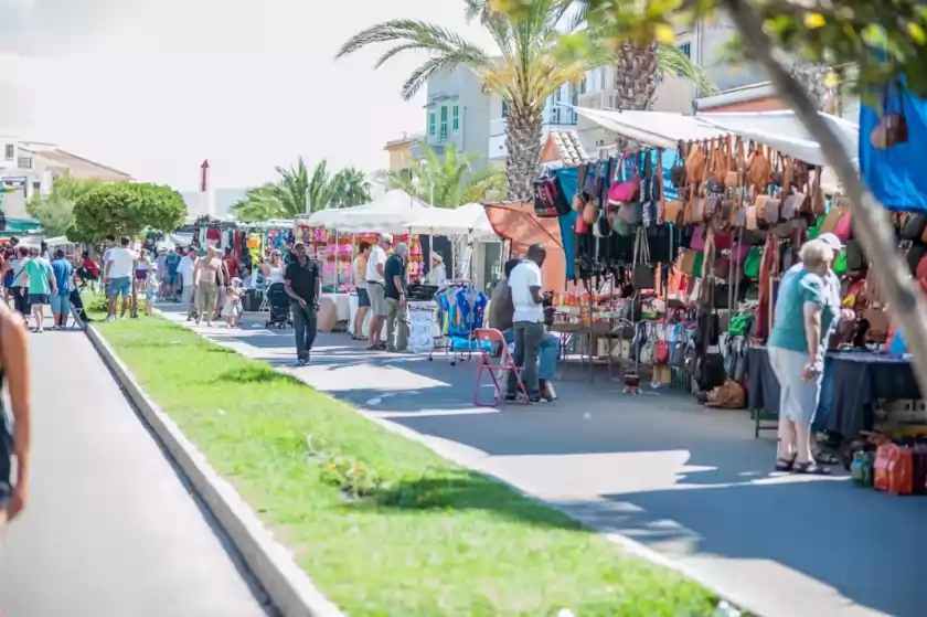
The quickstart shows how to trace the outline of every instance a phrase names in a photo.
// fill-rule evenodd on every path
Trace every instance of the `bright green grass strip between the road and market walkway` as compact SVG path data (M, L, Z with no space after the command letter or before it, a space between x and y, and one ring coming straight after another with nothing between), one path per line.
M262 362L160 318L97 325L352 617L694 617L713 596Z

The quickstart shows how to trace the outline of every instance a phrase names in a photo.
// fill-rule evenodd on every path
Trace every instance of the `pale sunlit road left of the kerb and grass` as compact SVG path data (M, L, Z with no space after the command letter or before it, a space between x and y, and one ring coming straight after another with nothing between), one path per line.
M32 334L34 477L4 617L267 615L86 337Z

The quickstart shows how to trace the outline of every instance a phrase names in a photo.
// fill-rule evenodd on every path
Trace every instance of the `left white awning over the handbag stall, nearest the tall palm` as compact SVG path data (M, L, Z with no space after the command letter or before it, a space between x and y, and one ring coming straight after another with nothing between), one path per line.
M694 116L674 111L615 111L588 107L573 109L606 130L667 150L675 150L680 139L700 141L723 135L723 131L700 123Z

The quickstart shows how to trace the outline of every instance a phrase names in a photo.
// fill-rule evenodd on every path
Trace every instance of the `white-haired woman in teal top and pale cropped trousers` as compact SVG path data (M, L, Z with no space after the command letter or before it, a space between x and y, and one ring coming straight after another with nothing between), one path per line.
M767 343L780 391L776 470L828 475L812 455L811 423L821 395L824 344L840 316L840 298L827 283L834 252L828 243L812 240L801 247L799 258L801 267L789 269L779 284Z

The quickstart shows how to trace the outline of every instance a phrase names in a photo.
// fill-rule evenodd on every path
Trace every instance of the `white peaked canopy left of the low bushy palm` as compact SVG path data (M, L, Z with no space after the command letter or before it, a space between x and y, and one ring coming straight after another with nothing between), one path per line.
M405 191L388 191L364 205L320 210L309 216L309 224L348 233L406 233L431 206Z

